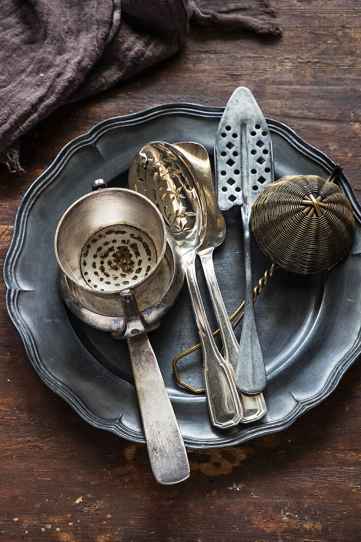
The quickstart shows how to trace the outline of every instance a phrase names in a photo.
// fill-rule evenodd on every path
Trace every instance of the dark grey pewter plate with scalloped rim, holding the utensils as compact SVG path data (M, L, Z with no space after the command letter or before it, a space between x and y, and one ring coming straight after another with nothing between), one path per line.
M144 442L137 395L125 341L76 321L57 288L53 249L63 212L90 189L94 179L127 186L134 154L154 140L195 141L213 156L223 108L168 104L105 120L70 141L25 194L5 261L7 307L31 363L46 384L87 422L134 442ZM333 162L290 128L268 119L276 178L313 173L326 177ZM336 388L361 350L361 207L349 180L341 189L356 217L350 256L328 273L302 277L277 270L257 300L256 318L267 368L268 412L259 422L217 430L204 396L179 388L172 372L176 354L198 341L188 292L150 335L188 448L233 446L290 425ZM232 312L243 300L243 235L240 209L225 213L227 236L215 251L225 304ZM254 279L270 265L253 243ZM202 295L215 324L207 287ZM238 333L240 330L238 330ZM239 336L239 335L238 335ZM183 379L202 386L199 352L179 362Z

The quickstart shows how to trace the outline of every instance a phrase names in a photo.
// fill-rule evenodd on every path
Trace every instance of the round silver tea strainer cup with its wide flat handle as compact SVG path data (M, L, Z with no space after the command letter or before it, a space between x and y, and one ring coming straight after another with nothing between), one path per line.
M147 198L131 190L108 189L99 180L93 189L62 216L56 258L67 281L88 296L120 301L126 329L114 335L127 337L153 474L165 485L182 482L190 474L188 457L147 335L151 326L134 296L151 285L162 267L164 221Z

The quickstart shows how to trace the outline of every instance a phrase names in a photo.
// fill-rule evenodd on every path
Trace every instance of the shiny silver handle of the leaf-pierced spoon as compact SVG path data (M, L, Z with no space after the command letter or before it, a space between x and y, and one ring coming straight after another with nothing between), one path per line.
M201 293L199 292L195 254L184 259L185 277L198 326L203 350L203 380L211 422L222 429L233 427L241 421L242 405L231 373L217 349L205 314Z

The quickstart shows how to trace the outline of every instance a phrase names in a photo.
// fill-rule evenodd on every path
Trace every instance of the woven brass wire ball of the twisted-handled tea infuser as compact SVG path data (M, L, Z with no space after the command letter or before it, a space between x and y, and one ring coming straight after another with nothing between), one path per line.
M354 217L349 199L330 178L287 175L265 187L252 208L252 231L263 253L295 273L335 266L350 251Z

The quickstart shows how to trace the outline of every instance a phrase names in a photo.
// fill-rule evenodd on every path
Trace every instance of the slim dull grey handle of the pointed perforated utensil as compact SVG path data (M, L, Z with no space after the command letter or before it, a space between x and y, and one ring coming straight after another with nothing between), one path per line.
M242 207L244 268L246 274L246 294L244 296L244 316L240 349L236 369L236 385L242 393L254 395L266 388L266 368L258 337L253 302L253 280L250 238L250 210Z

